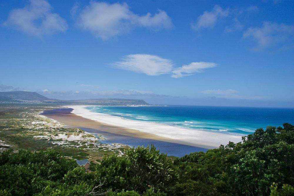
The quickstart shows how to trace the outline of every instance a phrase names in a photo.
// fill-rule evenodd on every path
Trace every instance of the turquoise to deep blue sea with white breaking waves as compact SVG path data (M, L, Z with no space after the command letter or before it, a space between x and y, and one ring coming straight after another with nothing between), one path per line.
M258 128L278 127L283 126L283 123L294 124L294 108L89 106L87 109L132 121L156 122L225 134L248 135Z

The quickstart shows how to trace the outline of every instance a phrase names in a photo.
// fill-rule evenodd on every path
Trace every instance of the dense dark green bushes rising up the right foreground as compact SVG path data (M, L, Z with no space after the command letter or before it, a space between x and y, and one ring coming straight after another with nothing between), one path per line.
M176 159L181 177L174 195L259 196L270 195L273 183L293 186L294 126L283 126L257 129L242 143Z

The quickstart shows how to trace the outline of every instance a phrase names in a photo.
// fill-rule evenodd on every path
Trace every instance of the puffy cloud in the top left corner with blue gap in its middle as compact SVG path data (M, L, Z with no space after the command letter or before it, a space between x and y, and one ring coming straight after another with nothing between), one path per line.
M52 13L50 4L45 0L30 0L30 4L24 8L13 9L4 25L37 37L65 32L67 29L66 21Z

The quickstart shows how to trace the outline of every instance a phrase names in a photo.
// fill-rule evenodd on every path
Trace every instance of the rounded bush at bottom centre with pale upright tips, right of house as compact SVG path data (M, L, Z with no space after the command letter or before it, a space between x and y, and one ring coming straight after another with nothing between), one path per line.
M104 157L97 166L97 179L106 182L106 187L143 193L150 188L163 190L177 179L172 161L166 154L159 154L153 145L150 149L138 146L126 155Z

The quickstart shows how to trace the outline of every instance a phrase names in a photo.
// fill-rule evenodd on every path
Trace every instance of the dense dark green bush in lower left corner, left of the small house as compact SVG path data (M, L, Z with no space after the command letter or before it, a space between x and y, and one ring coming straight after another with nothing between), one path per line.
M57 151L5 151L0 154L0 190L11 195L34 195L58 184L75 167L74 160L61 157Z

